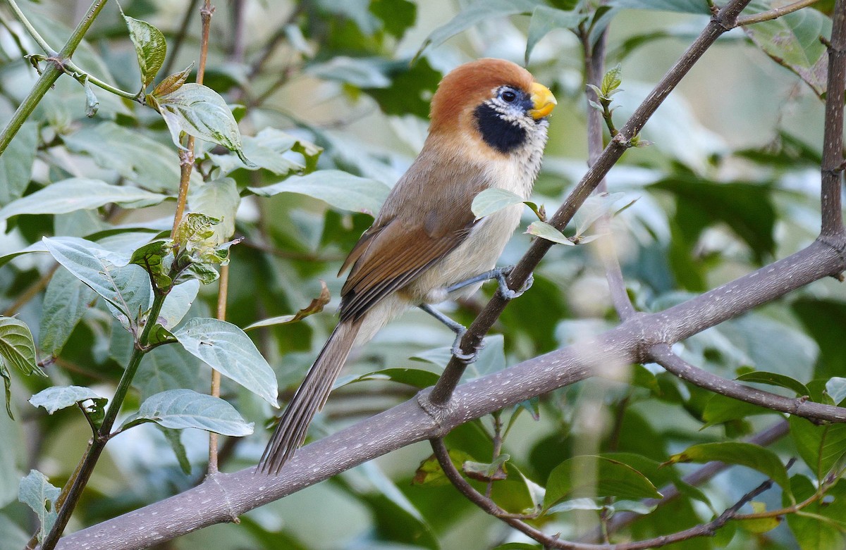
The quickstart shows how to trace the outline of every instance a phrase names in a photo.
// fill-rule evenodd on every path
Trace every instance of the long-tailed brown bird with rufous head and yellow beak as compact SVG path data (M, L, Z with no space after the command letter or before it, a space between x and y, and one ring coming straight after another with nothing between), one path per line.
M288 402L256 471L278 475L305 441L350 350L405 310L420 306L449 324L459 333L453 346L459 354L463 327L430 305L469 296L492 277L508 292L503 270L493 268L519 225L522 205L480 220L470 207L488 188L528 199L556 104L528 70L503 59L464 63L443 77L431 98L423 148L338 272L349 270L338 324Z

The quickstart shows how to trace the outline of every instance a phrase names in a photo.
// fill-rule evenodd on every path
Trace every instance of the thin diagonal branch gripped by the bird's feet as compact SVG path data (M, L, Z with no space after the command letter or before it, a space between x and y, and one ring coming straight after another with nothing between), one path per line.
M612 166L620 160L623 153L629 149L629 141L634 136L640 133L647 120L656 111L658 106L662 104L667 95L672 92L676 85L684 78L699 60L706 50L717 41L724 32L730 30L735 25L738 14L750 3L750 0L732 0L722 8L718 14L711 18L711 22L706 26L705 30L689 46L682 57L667 71L667 74L661 79L656 87L651 91L650 95L646 97L643 103L637 108L629 121L620 130L616 136L613 137L611 143L607 145L602 155L596 159L596 162L591 166L588 172L582 177L581 181L570 193L569 197L564 201L561 208L552 216L550 224L557 229L563 229L567 226L569 221L573 218L575 211L581 206L585 199L593 192L596 186L606 176ZM544 239L536 239L525 253L519 263L508 275L508 286L510 288L522 288L525 281L528 280L531 272L535 270L537 264L540 263L543 256L552 247L552 242ZM473 324L461 340L461 349L464 352L475 350L481 344L481 340L492 325L503 313L503 309L508 304L500 293L494 294L491 301L488 302L485 309L476 317ZM435 389L431 392L431 403L433 406L443 406L448 402L450 395L456 385L459 384L461 375L464 373L466 365L460 362L456 357L453 357L444 370L441 378L438 380Z

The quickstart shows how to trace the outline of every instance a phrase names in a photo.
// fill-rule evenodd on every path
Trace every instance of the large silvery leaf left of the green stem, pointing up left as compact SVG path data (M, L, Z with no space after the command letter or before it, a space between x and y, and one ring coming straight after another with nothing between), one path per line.
M128 259L85 239L43 237L42 241L59 264L110 304L124 327L132 326L138 313L149 307L150 280L140 266L127 265Z

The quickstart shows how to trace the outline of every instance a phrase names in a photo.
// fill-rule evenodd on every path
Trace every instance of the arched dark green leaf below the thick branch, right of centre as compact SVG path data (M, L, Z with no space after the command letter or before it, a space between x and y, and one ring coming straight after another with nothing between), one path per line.
M590 485L585 481L588 471L596 472ZM596 497L661 498L649 479L631 466L602 456L582 455L564 460L552 469L543 508L549 509L558 502L585 493Z

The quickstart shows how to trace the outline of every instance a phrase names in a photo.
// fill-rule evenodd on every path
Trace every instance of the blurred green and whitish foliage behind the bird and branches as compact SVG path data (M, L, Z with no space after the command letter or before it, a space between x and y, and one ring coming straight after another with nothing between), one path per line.
M153 0L122 4L126 14L165 32L172 51L182 36L181 22L190 14L184 43L175 60L168 60L173 71L198 57L199 19L188 4ZM559 5L566 2L552 4L566 7ZM651 5L678 8L685 4L689 3ZM69 34L64 26L79 19L86 6L45 0L24 7L42 34L55 36L52 42L59 45ZM319 170L340 169L392 185L420 149L427 99L441 74L477 57L523 60L530 19L500 16L427 50L409 69L409 58L426 36L463 7L462 3L405 0L220 3L211 23L206 85L230 103L243 106L235 112L244 136L279 128L324 148ZM622 63L624 91L615 96L620 106L615 118L622 121L629 115L705 24L706 14L684 11L624 9L616 14L610 26L609 65ZM15 29L13 23L8 25ZM287 32L274 42L280 29ZM811 30L810 35L819 31ZM634 47L635 40L644 43ZM116 4L107 5L86 42L74 56L76 63L124 90L137 89L135 52ZM0 117L8 118L36 74L20 59L7 30L0 33L0 47ZM264 62L257 65L266 52ZM552 86L559 101L535 195L536 203L545 204L549 211L558 207L585 170L581 66L579 43L563 29L552 30L537 44L528 66L536 79ZM0 197L0 204L67 177L100 178L175 194L179 161L161 117L105 92L97 97L100 111L88 119L83 89L72 79L59 80L36 110L34 124L25 127L13 144L19 146L18 155L34 155L31 175L16 194L7 187L8 195ZM822 117L816 95L794 74L772 63L742 31L728 33L706 54L646 126L642 135L653 145L630 150L608 177L610 191L625 193L620 205L637 199L615 218L613 229L629 292L638 308L666 308L690 293L793 253L816 237ZM27 143L20 143L24 140ZM250 139L246 142L250 157ZM153 149L151 143L159 146ZM211 144L198 142L198 146L210 155L226 155L224 150L212 150ZM293 152L284 158L304 162L303 155ZM6 177L13 177L13 163L4 162ZM233 161L209 156L201 172L215 162ZM245 191L248 186L280 182L288 175L278 173L284 168L276 172L239 168L229 174L243 195L235 234L244 236L244 242L232 249L228 299L228 320L240 327L305 307L319 295L320 280L337 296L341 281L334 274L340 260L371 221L365 213L338 208L338 201L345 200L343 193L333 199L333 207L307 196L305 188L301 189L305 194L280 193L269 199ZM4 220L0 254L14 253L44 235L88 236L110 225L166 230L168 216L172 219L172 201L140 209L108 205L67 214L12 216ZM524 227L533 216L527 209ZM528 242L529 236L515 235L501 263L514 263ZM30 294L27 290L39 280L46 281L50 270L52 259L40 254L14 259L0 269L0 308L7 312L17 308L19 319L30 326L40 345L42 360L47 360L50 351L39 327L62 313L45 311L43 291ZM485 292L489 295L491 289ZM211 317L216 301L216 285L204 286L189 316ZM483 303L484 297L475 297L444 309L469 323ZM283 396L286 389L299 384L332 329L334 305L299 323L250 332L275 369ZM783 301L696 335L679 351L696 365L727 378L754 368L803 383L822 380L816 383L821 387L828 378L846 373L839 341L844 312L839 283L819 281ZM612 326L615 320L602 264L591 245L554 248L536 271L535 286L511 303L497 324L504 348L494 337L479 370L503 368L568 345ZM125 364L124 335L102 303L96 303L85 308L55 362L47 362L49 378L14 374L11 406L17 422L0 415L3 548L6 544L23 547L36 530L33 517L17 502L20 476L37 468L60 486L90 435L78 411L47 417L26 400L51 384L91 386L110 395ZM409 312L354 357L345 381L387 367L437 372L443 354L432 350L451 341L448 330L428 316ZM136 386L157 378L166 387L205 391L207 368L172 347L146 358ZM414 356L430 362L409 359ZM654 376L639 373L643 378L634 384L594 379L545 397L536 404L539 420L524 413L508 433L504 450L512 457L509 464L542 483L553 466L573 455L624 451L663 461L690 444L736 438L773 422L772 414L760 416L755 415L760 411L749 407L722 404L720 422L703 429L709 403L711 414L717 414L714 410L721 405L712 402L711 394L678 382L660 368L651 369ZM409 398L414 391L390 382L349 384L333 395L312 433L331 433ZM257 427L255 434L223 444L222 470L235 471L255 464L261 455L266 440L261 427L272 410L260 398L226 381L223 396ZM130 410L138 403L138 395L130 397ZM491 420L481 426L490 431ZM192 466L190 475L180 469L171 444L151 424L115 438L71 526L92 525L194 485L205 469L206 435L189 429L181 440ZM448 444L475 460L490 460L491 442L479 424L459 428L448 437ZM788 439L775 449L785 460L797 455ZM415 469L429 455L428 445L413 445L256 509L241 525L216 525L162 548L475 548L522 540L459 498L452 487L412 484ZM807 472L806 468L801 463L794 466L800 472ZM719 510L763 479L748 469L733 468L702 488ZM525 485L513 485L501 483L499 496L519 507L525 504ZM777 489L762 499L769 508L781 505ZM624 536L678 531L709 515L704 504L684 498L646 516ZM575 511L555 516L545 529L561 531L568 538L594 525L595 513ZM675 547L708 548L722 542L733 548L797 547L785 525L761 534L738 530L731 542L731 536L722 539L695 539ZM807 541L800 542L810 547ZM820 547L842 547L842 536L833 537L830 544Z

